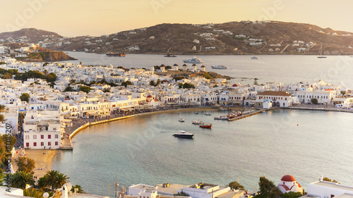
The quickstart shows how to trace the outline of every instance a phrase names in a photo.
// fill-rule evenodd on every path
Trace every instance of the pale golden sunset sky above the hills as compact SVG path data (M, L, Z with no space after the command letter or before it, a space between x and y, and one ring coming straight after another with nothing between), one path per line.
M353 32L352 0L0 0L0 32L100 36L160 23L280 20Z

